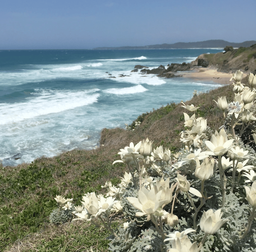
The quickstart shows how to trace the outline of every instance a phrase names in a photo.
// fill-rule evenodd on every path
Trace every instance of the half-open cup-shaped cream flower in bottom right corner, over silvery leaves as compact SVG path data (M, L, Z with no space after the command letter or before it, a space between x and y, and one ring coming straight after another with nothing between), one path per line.
M203 211L203 215L200 220L200 228L203 232L208 235L216 233L221 226L226 223L228 220L221 219L221 208L213 212L213 209L208 211Z

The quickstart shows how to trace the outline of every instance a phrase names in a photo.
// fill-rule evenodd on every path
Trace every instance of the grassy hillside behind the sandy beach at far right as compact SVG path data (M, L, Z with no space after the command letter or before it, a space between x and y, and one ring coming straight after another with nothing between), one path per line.
M240 47L226 53L203 54L203 58L206 58L210 65L217 66L220 72L234 72L240 69L256 74L256 47Z

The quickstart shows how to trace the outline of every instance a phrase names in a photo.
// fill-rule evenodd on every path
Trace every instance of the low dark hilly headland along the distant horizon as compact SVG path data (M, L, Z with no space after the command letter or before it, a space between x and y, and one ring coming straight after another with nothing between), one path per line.
M199 42L178 42L174 44L154 44L145 46L121 46L121 47L97 47L93 50L123 50L123 49L182 49L182 48L224 48L232 47L249 47L256 44L255 40L244 41L241 43L228 42L222 39L212 39Z

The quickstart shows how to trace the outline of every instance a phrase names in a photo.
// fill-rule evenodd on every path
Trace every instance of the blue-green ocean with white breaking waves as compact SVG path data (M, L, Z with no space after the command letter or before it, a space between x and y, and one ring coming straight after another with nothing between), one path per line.
M15 166L96 148L103 128L125 128L153 108L220 86L131 72L135 65L152 69L220 51L0 50L0 160Z

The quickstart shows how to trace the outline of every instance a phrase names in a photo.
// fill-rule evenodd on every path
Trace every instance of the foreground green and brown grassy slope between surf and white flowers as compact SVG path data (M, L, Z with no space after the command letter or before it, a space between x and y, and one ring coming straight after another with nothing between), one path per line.
M200 106L197 115L207 118L208 125L217 129L223 118L212 100L222 95L231 100L232 87L223 86L194 96L185 104ZM99 233L87 223L58 227L49 224L48 216L56 207L53 197L66 195L74 198L77 205L84 193L104 192L100 186L105 181L111 179L117 184L126 168L121 163L114 166L112 163L120 159L119 149L131 141L137 143L148 137L154 140L154 147L161 144L178 150L183 112L187 111L170 104L140 117L143 122L133 131L103 129L101 146L96 150L73 150L53 158L40 158L31 164L0 167L0 251L5 248L18 251L18 247L21 251L77 251L90 246L106 251L107 233ZM11 247L14 242L15 246Z

